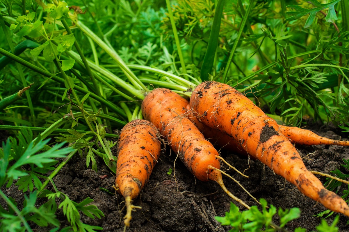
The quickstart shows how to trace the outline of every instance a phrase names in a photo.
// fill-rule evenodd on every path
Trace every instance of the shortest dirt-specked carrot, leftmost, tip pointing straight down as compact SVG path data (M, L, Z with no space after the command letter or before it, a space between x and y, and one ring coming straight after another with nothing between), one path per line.
M125 228L132 219L132 210L140 208L132 205L132 199L138 197L148 182L159 158L161 151L159 137L156 127L147 120L133 120L121 130L115 184L126 202Z

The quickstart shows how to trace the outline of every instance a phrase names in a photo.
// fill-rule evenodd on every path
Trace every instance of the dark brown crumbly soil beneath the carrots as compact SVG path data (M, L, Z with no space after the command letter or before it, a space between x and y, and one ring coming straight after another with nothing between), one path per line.
M332 139L346 139L348 134L341 133L341 129L332 124L320 125L319 123L308 123L308 129L317 131L318 134ZM299 150L306 167L309 170L320 171L331 174L330 171L340 169L343 173L349 174L347 169L340 165L342 159L349 158L349 148L335 145L316 145L316 146L296 146ZM114 148L113 152L116 151ZM316 226L321 223L321 218L313 216L326 210L321 204L302 195L294 185L273 173L271 169L263 165L258 160L248 160L247 157L240 157L227 151L221 151L222 156L235 166L238 170L245 170L249 178L242 177L231 169L228 170L224 165L224 170L246 190L248 190L257 199L264 198L268 204L282 209L298 207L302 214L300 218L289 222L286 229L294 231L296 227L303 227L307 231L315 231ZM168 147L164 148L158 163L155 165L153 173L150 176L149 183L144 187L140 197L134 200L134 205L141 206L142 209L136 209L132 213L131 226L127 231L168 231L168 232L224 232L231 229L230 226L221 226L215 219L215 216L224 216L229 211L232 199L213 181L201 182L184 167L180 161L176 162L175 177L173 173L168 175L170 168L173 169L175 155L170 154ZM115 154L116 155L116 154ZM87 197L94 200L92 204L103 211L104 217L101 219L91 219L82 215L82 221L90 225L103 227L103 231L123 231L123 219L126 210L121 195L109 194L100 189L100 187L115 193L112 185L115 181L113 173L104 165L102 159L97 159L98 172L86 168L86 159L81 159L79 155L73 157L67 165L62 168L53 181L58 190L64 192L71 200L81 202ZM322 183L325 178L320 177ZM236 197L245 201L248 205L257 205L251 197L244 192L231 179L223 177L224 183ZM53 190L52 186L47 186ZM338 194L343 195L343 190L347 185L342 185L338 189ZM17 186L12 186L5 192L8 197L13 197L17 202L23 202L22 192L17 191ZM3 205L3 202L0 202ZM245 210L242 205L234 202L240 210ZM20 206L18 206L20 207ZM61 210L58 210L58 219L61 225L68 225ZM336 213L326 220L330 224L335 218ZM346 225L348 218L340 215L339 231L349 232L349 225ZM279 224L278 219L274 222ZM48 231L47 228L32 227L33 231Z

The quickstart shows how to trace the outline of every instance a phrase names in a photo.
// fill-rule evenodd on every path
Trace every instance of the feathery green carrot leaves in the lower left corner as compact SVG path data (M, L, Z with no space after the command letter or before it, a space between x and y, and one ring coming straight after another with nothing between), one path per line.
M1 190L0 197L7 203L8 209L0 206L1 231L23 231L22 224L27 231L32 231L28 222L34 222L38 226L54 226L57 231L60 223L55 213L57 209L62 208L64 215L72 225L73 231L94 231L101 230L101 227L90 226L80 221L79 211L85 215L94 218L104 216L102 211L94 205L87 204L93 200L87 198L80 203L76 203L68 196L55 188L53 193L44 190L48 182L52 182L52 175L45 176L58 161L55 158L64 158L65 154L76 152L72 147L64 147L64 143L56 144L53 147L47 146L50 139L32 141L33 133L31 130L22 129L16 138L9 137L6 143L2 142L0 149L0 186L10 187L13 182L18 186L18 190L23 193L29 191L29 196L24 195L24 202L15 202L14 199L8 198ZM46 179L42 183L40 179ZM34 183L34 184L33 184ZM54 186L55 187L55 186ZM35 190L36 189L36 190ZM45 203L37 208L38 198L47 198ZM62 200L57 207L56 200ZM22 205L23 209L19 210L17 205Z

